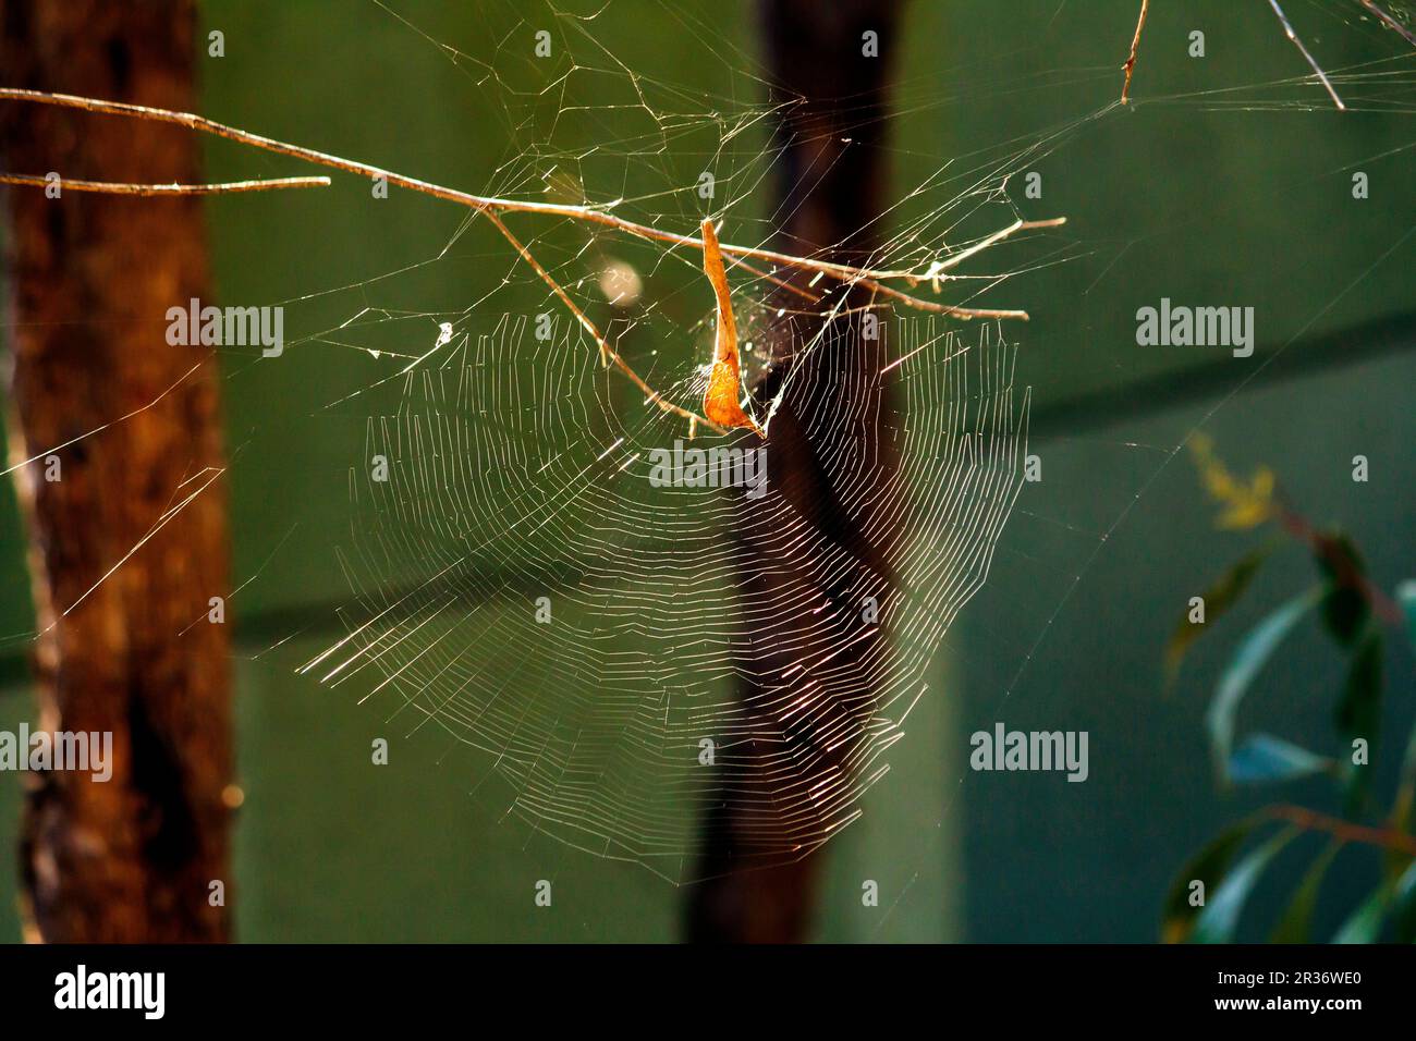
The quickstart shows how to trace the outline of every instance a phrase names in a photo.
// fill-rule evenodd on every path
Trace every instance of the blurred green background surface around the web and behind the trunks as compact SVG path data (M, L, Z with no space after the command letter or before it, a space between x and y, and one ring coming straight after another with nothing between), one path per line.
M899 37L884 41L899 52L896 227L964 195L1008 159L1042 174L1038 201L1011 186L1027 215L1065 214L1069 224L1042 248L1010 246L994 261L1028 266L1051 248L1066 262L983 297L1032 314L1008 331L1021 344L1018 380L1032 387L1031 450L1044 480L1025 486L988 584L950 630L930 695L891 752L892 772L828 847L823 939L1148 940L1185 857L1259 804L1260 795L1216 790L1201 717L1239 626L1307 585L1311 565L1286 554L1229 635L1202 640L1177 690L1163 693L1163 646L1185 601L1253 541L1214 531L1185 453L1171 460L1197 425L1236 470L1267 463L1314 520L1347 527L1388 589L1416 571L1416 245L1405 238L1416 227L1416 178L1403 150L1412 95L1399 82L1338 76L1354 108L1372 109L1338 115L1315 85L1297 82L1306 68L1266 4L1211 0L1155 6L1138 103L1107 109L1136 7L915 3ZM1290 7L1327 68L1385 59L1374 68L1409 76L1412 58L1357 4ZM716 153L719 169L741 173L729 181L743 197L733 220L765 234L772 187L755 183L766 173L763 125L724 144L724 123L701 115L765 101L746 4L616 0L581 23L564 7L520 3L248 0L204 4L204 24L225 34L225 57L201 61L201 110L215 119L473 191L527 191L511 174L547 135L562 154L612 142L603 161L581 167L596 197L678 191ZM644 132L641 112L619 108L630 81L579 79L575 101L589 110L555 122L564 101L531 81L524 59L542 25L585 64L607 65L607 51L650 89L681 88L681 109L700 113L694 129L663 153L651 137L656 154L617 166L616 149ZM1206 34L1202 59L1187 55L1195 28ZM207 154L212 180L304 173L224 142ZM909 198L940 170L943 194ZM1352 198L1354 170L1369 174L1371 198ZM695 208L681 194L629 215L688 231ZM333 610L348 591L333 545L350 525L350 456L375 411L326 405L387 374L329 330L365 303L462 312L510 271L506 248L473 224L429 262L463 214L398 191L372 201L353 177L336 176L324 191L211 200L208 214L221 297L285 303L295 341L279 365L224 357L234 575L259 572L232 602L246 793L231 887L239 936L673 939L683 889L504 820L500 803L472 790L472 756L445 756L445 744L422 732L405 739L377 710L293 674L338 632ZM552 228L548 242L552 255L569 254L575 232ZM370 285L411 265L421 266ZM651 285L674 302L692 278L680 263ZM1161 296L1256 306L1255 357L1137 347L1134 312ZM542 303L524 279L496 297L511 312ZM422 323L418 341L433 329ZM1372 460L1369 483L1349 477L1357 453ZM8 635L31 622L8 487L3 496ZM13 729L31 708L24 643L4 653L0 727ZM1412 721L1412 661L1396 654L1386 676L1392 734ZM1321 748L1340 681L1315 625L1300 629L1245 718L1277 721L1286 736ZM967 772L967 735L995 719L1090 731L1090 780ZM370 741L384 735L392 761L375 768ZM1379 763L1388 778L1392 766ZM1284 796L1321 804L1320 789L1303 785ZM17 803L16 779L0 778L0 847L13 846ZM1320 922L1334 928L1375 871L1375 857L1344 854ZM531 899L541 878L555 885L549 911ZM862 878L879 881L879 908L861 906ZM18 936L13 888L11 860L0 858L0 939ZM1272 909L1260 901L1246 928L1262 935Z

